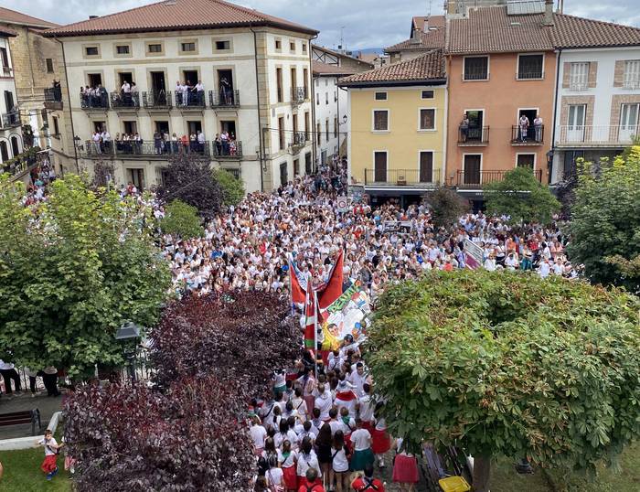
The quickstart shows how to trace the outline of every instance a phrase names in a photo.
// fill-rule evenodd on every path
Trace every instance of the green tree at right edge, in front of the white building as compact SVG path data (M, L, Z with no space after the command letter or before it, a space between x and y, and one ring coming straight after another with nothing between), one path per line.
M640 292L640 146L626 160L581 166L575 195L571 260L584 264L592 282Z

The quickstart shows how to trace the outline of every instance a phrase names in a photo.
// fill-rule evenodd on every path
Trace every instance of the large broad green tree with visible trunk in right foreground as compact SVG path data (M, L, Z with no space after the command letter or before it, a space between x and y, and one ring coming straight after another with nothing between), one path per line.
M381 296L365 348L411 448L589 469L640 435L640 300L523 273L433 272Z

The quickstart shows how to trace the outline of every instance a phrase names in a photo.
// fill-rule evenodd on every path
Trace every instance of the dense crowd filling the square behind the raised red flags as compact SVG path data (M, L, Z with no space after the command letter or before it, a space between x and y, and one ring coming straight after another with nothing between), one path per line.
M286 294L289 262L303 282L322 283L339 251L345 277L359 280L375 299L385 283L430 270L466 268L465 240L482 251L487 270L535 270L575 277L564 254L567 238L556 226L514 229L507 218L465 214L451 229L435 228L426 204L401 209L393 201L336 209L346 193L344 166L297 177L275 193L252 193L238 207L208 222L203 237L163 236L176 290L208 294L228 288ZM399 225L402 227L399 227Z

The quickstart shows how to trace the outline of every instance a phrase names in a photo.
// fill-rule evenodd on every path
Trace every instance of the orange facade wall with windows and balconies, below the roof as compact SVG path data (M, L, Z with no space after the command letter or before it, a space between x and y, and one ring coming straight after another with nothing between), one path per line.
M546 182L554 51L450 55L446 63L446 184L482 187L517 166L531 167Z

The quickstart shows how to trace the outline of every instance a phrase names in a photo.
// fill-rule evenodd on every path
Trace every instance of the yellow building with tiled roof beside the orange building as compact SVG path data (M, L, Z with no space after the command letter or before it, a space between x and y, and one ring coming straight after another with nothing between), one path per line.
M341 79L348 89L349 182L378 197L421 196L442 183L447 85L443 50Z

